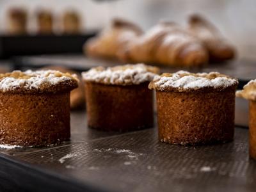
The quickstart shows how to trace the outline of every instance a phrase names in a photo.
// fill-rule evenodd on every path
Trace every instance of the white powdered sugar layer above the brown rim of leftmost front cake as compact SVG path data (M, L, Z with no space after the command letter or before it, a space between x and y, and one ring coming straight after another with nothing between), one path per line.
M4 74L5 75L5 74ZM26 90L39 89L44 85L54 85L63 81L76 79L76 75L63 74L56 70L26 70L21 72L15 70L6 76L0 76L0 90L3 92L12 91L17 88Z

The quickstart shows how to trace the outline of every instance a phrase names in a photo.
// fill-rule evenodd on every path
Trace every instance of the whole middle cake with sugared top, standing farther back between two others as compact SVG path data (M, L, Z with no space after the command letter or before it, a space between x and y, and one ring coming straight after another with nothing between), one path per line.
M83 72L88 126L120 132L152 127L153 94L147 86L157 72L143 64Z

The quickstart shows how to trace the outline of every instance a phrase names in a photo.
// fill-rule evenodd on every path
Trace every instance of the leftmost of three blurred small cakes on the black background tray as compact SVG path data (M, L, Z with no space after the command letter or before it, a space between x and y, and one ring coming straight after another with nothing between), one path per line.
M11 8L8 11L8 33L10 35L20 35L26 33L27 11L23 8Z

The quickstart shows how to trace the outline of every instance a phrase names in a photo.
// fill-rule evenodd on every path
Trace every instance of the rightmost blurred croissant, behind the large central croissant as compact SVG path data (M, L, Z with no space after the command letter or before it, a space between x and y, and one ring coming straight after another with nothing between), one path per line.
M200 15L191 15L189 17L188 30L197 36L209 51L210 60L225 61L235 57L236 51L208 20Z

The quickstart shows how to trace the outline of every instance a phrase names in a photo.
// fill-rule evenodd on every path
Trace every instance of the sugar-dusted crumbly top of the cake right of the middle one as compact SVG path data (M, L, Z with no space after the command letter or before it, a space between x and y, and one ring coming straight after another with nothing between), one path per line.
M150 82L148 88L159 91L188 92L205 88L224 89L237 84L237 79L218 72L193 74L180 70L174 74L166 73L156 76L154 81Z

